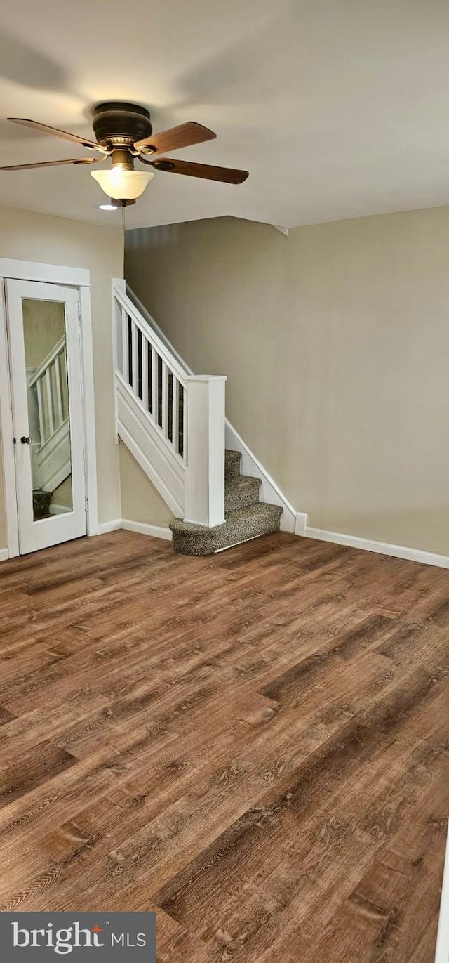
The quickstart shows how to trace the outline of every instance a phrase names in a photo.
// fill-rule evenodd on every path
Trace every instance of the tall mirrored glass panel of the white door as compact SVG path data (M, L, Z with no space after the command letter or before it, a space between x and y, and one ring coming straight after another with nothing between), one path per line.
M64 308L22 299L35 522L73 508Z

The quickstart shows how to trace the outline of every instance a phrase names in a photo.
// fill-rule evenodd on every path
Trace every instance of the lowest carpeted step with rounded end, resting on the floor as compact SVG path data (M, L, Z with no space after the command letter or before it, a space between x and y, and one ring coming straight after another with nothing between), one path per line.
M279 532L282 513L279 505L258 502L227 512L224 524L212 529L174 518L170 522L173 548L180 555L213 555L250 538Z

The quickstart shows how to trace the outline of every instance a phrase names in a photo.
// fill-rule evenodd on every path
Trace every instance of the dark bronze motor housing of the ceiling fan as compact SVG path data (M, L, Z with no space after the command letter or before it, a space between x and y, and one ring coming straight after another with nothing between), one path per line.
M145 107L115 100L95 107L92 127L98 143L114 147L131 147L153 132Z

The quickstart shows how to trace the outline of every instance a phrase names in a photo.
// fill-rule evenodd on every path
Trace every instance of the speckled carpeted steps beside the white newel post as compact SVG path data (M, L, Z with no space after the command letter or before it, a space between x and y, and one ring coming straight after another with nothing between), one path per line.
M213 555L241 542L279 532L283 508L259 501L262 479L240 475L240 452L225 450L225 522L207 528L182 518L170 522L179 555Z

